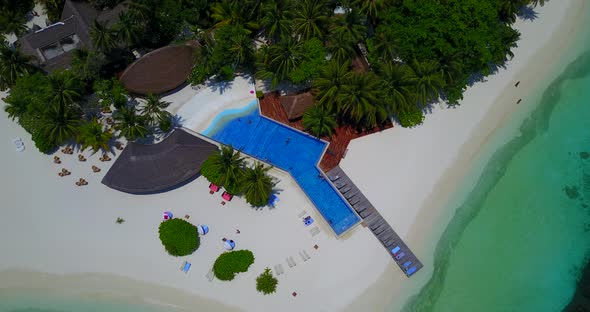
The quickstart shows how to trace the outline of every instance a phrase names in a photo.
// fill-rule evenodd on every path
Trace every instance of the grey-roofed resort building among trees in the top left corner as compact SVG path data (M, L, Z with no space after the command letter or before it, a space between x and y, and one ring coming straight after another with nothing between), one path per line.
M66 0L61 21L23 36L18 40L19 49L33 57L35 65L45 71L68 69L75 49L92 47L90 29L94 21L111 26L125 10L125 2L113 9L98 11L88 2Z

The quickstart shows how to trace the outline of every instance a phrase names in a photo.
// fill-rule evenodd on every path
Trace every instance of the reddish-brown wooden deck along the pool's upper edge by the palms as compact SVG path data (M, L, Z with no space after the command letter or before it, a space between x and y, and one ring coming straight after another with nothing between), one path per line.
M280 95L278 92L271 92L264 95L264 98L260 99L260 112L262 115L278 121L289 127L305 131L301 124L301 119L295 121L289 121L287 114L281 106ZM350 126L340 126L334 129L334 134L331 137L322 137L324 141L330 143L328 149L324 154L324 157L320 161L320 168L324 171L328 171L340 163L340 160L346 156L348 150L348 144L351 140L365 136L367 134L375 133L393 127L391 122L387 122L382 128L375 128L370 131L357 131L355 128Z

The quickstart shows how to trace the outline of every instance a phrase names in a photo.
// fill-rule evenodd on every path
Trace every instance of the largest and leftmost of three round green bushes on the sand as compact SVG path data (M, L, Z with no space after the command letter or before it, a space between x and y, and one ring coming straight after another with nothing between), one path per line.
M182 219L171 219L160 224L160 240L173 256L190 255L199 248L197 227Z

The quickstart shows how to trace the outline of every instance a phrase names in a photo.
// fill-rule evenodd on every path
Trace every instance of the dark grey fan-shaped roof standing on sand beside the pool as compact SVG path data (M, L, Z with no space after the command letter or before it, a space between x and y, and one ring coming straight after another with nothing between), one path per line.
M129 143L102 184L125 193L160 193L195 178L217 146L176 129L157 144Z

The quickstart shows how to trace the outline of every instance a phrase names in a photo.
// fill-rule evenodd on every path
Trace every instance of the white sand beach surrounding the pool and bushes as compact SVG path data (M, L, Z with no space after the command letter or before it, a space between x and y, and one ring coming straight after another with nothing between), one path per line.
M514 59L507 69L470 88L461 106L435 107L420 127L394 127L349 146L342 168L425 265L411 279L367 228L358 226L335 238L297 184L279 170L272 171L282 190L274 209L257 211L241 198L222 206L220 193L210 195L202 177L166 193L129 195L100 183L112 161L102 163L98 154L86 151L88 161L79 162L76 153L58 152L62 164L56 165L53 155L40 154L30 136L3 114L0 290L52 288L72 296L117 296L183 311L198 305L215 311L381 311L392 299L401 307L432 273L436 238L452 216L440 209L442 204L482 144L507 116L526 108L536 78L559 61L584 1L551 1L537 9L535 21L518 21L522 37ZM517 81L521 83L515 88ZM214 89L183 90L165 100L173 102L173 113L199 116L185 121L188 128L200 130L207 119L231 107L228 103L243 105L255 98L243 92L249 84L234 87L239 95L224 91L223 100ZM516 105L519 98L521 106ZM190 101L195 102L183 105ZM219 104L208 106L209 101ZM22 153L14 149L16 137L25 142ZM102 171L93 173L92 165ZM62 167L72 175L59 177ZM89 185L75 186L80 177ZM157 232L164 210L210 226L194 254L176 258L165 252ZM302 211L315 219L311 227L298 217ZM125 223L116 224L118 217ZM314 226L320 229L316 236L310 233ZM223 237L235 240L237 249L252 250L256 260L231 282L208 281L208 271L223 252ZM310 259L304 261L300 251ZM288 257L294 258L295 267L287 265ZM187 274L179 270L185 260L192 263ZM284 273L278 276L277 293L257 293L256 276L278 264Z

